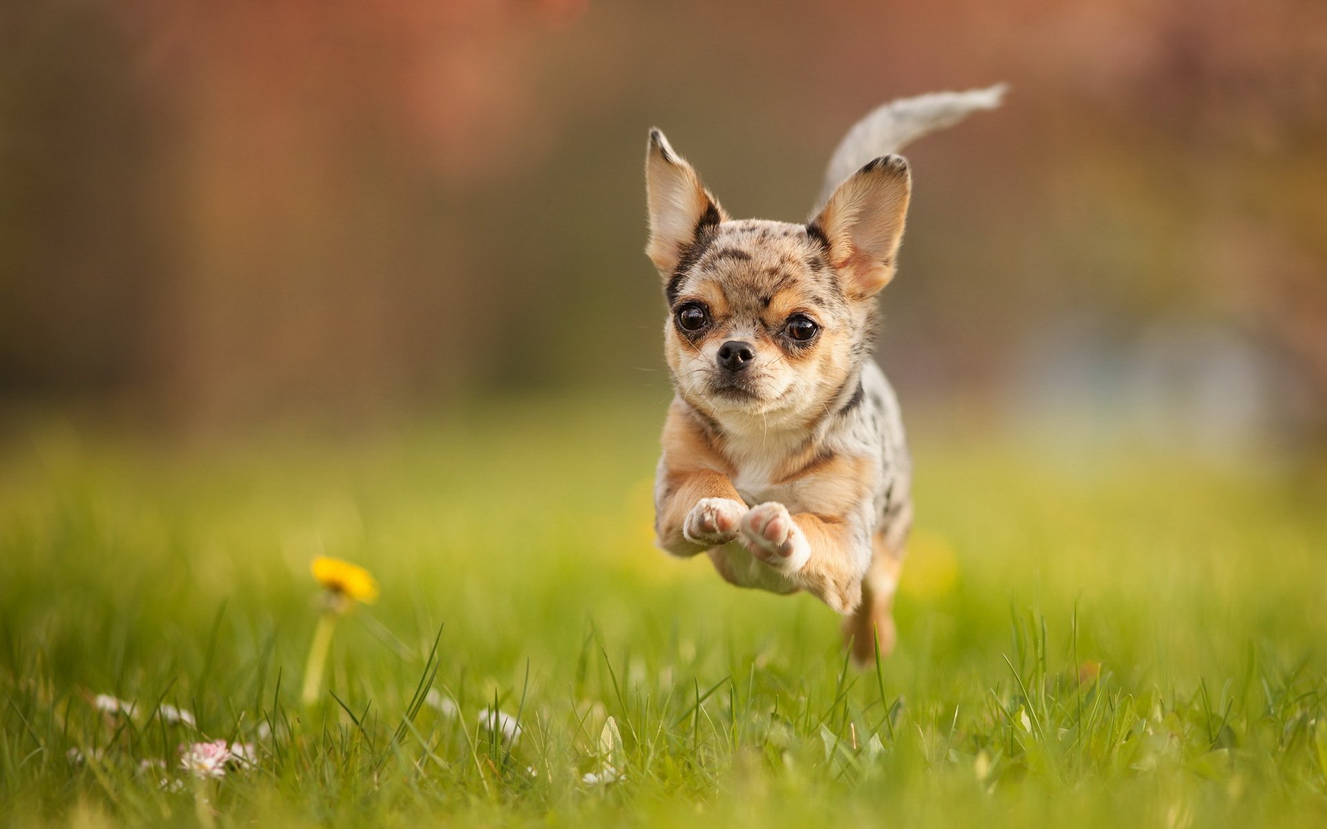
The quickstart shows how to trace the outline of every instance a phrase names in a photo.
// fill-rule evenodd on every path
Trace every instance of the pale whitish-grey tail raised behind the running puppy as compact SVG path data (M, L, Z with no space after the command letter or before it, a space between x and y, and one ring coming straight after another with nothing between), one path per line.
M900 98L872 110L835 149L811 215L819 214L839 184L871 159L897 153L926 133L953 126L975 111L995 109L1006 89L1005 84L997 84L967 92L937 92Z

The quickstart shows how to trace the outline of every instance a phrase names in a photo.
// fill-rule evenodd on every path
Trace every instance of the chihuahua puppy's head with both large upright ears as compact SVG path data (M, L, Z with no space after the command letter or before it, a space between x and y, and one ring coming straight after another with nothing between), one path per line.
M825 411L865 359L873 298L894 273L908 162L871 162L807 224L734 222L652 130L645 184L681 395L726 423L803 426Z

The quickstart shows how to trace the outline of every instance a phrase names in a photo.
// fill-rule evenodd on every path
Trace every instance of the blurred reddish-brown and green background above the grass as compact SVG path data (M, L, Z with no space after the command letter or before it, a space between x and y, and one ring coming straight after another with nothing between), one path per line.
M0 9L0 410L381 427L666 398L641 155L796 220L898 96L913 420L1316 456L1327 5L46 0Z

